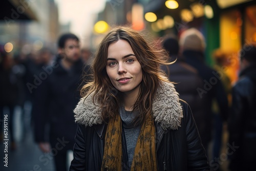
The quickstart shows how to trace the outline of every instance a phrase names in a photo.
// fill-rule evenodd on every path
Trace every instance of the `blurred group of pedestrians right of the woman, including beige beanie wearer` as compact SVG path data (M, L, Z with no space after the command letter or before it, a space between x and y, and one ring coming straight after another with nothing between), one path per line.
M175 61L163 69L190 105L211 169L255 169L256 46L244 45L238 52L240 70L234 83L227 73L232 67L229 55L221 49L212 52L214 65L206 64L207 45L199 30L166 35L162 46ZM225 161L228 166L223 167Z

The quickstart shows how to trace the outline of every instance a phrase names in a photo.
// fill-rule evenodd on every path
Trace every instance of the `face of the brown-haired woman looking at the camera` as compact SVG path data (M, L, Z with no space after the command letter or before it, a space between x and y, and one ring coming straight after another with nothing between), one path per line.
M142 68L129 42L118 40L110 44L106 73L118 91L137 97L142 81Z

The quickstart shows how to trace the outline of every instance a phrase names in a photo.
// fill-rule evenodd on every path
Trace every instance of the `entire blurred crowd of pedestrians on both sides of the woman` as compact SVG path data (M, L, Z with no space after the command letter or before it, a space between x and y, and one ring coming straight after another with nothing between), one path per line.
M65 106L69 105L67 101L71 103L70 99L68 99L69 96L66 96L66 94L65 96L55 97L58 93L68 93L71 89L70 87L72 87L71 84L77 84L78 81L81 81L83 75L79 71L79 75L74 79L75 69L77 68L73 67L73 70L70 69L73 66L70 63L74 64L74 62L62 62L73 60L69 58L70 51L67 48L71 48L71 50L72 48L77 48L77 54L79 55L77 58L79 58L83 66L79 67L83 70L87 66L86 64L90 63L92 51L90 49L81 49L79 46L76 47L73 42L70 44L71 47L68 47L68 39L70 38L63 40L63 45L59 45L58 52L52 52L50 49L44 48L28 55L17 52L11 56L4 51L3 47L0 47L0 115L1 121L3 121L4 113L9 114L9 137L12 150L16 149L16 142L13 137L15 106L20 106L24 115L25 104L31 104L31 123L29 127L38 133L38 130L36 130L39 129L37 128L38 124L44 122L44 119L47 118L41 117L44 113L40 114L39 117L39 113L45 110L46 106L62 105L59 108L65 109ZM244 169L245 165L250 169L250 164L253 164L255 160L253 156L256 153L256 147L253 145L256 143L256 110L253 108L256 100L255 45L246 45L239 52L241 63L240 75L238 81L232 84L225 72L225 68L230 65L227 59L228 55L221 49L216 49L212 53L215 65L208 66L206 64L204 55L206 45L204 36L200 31L192 28L184 31L179 37L176 35L165 35L161 39L161 45L169 54L170 61L175 61L172 65L163 66L163 70L168 75L169 80L175 82L180 98L187 101L190 105L212 169L223 169L221 166L221 162L224 160L223 146L226 150L224 151L225 157L230 162L228 169L246 170ZM77 39L77 41L79 40ZM64 57L61 54L64 54ZM59 58L62 60L58 64L63 71L58 72L65 72L62 74L53 71L55 70L54 67L57 66L53 61L58 61ZM50 69L49 66L52 68ZM59 67L56 68L57 72ZM54 74L56 74L55 77L53 76ZM66 77L62 79L63 75L66 75ZM71 81L72 78L73 82ZM55 80L55 82L51 82L51 79ZM48 84L48 89L42 90L44 87L47 87L45 84ZM55 84L57 87L56 90L53 90L53 85ZM75 88L79 89L81 84L79 82L79 85ZM73 97L75 88L71 89L70 97ZM58 92L59 90L62 92ZM61 98L62 100L59 100L61 101L60 104L42 105L45 102L42 99L46 94L49 94L50 98L48 101L52 103L56 103L52 98ZM78 100L79 97L75 99ZM70 106L70 118L73 117L72 111L75 104L76 102ZM62 114L55 114L56 112L49 116L50 122L59 123L61 119L67 117ZM49 113L45 115L49 115ZM62 132L70 131L67 123L61 123L61 126L59 126ZM24 127L26 126L24 125ZM1 122L1 129L3 129L3 122ZM224 131L227 131L229 134L226 144L223 144ZM53 132L51 134L54 134ZM58 130L56 134L57 132ZM75 135L75 132L72 134ZM44 132L42 135L35 135L35 141L37 143L49 141L44 136ZM55 139L53 141L50 140L50 145L53 147L58 142L56 138L59 137L61 139L65 136L65 134L53 136ZM2 130L1 139L3 140ZM40 146L45 153L49 152L49 146L46 147L46 145L41 144ZM73 144L70 145L73 146ZM65 159L55 162L61 165L62 160ZM240 163L243 164L243 167ZM56 168L56 170L61 169L63 167L60 169Z

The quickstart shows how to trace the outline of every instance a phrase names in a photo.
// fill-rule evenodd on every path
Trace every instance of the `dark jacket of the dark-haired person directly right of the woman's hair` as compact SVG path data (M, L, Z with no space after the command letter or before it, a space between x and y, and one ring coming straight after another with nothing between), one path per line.
M169 80L175 82L175 89L180 98L185 100L193 111L202 144L206 145L210 139L210 114L205 112L206 97L201 97L198 93L198 88L203 88L202 77L199 76L197 69L188 65L181 57L167 68L168 71L165 71L169 72Z

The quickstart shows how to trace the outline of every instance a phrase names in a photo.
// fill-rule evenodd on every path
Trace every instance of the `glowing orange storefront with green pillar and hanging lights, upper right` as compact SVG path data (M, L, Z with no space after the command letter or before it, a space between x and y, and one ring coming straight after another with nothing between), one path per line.
M157 16L155 22L147 23L147 29L151 29L159 37L169 33L180 35L183 30L190 27L199 29L206 39L205 55L208 65L213 66L215 63L214 52L217 49L222 51L226 56L223 72L230 77L232 82L235 82L239 72L239 50L244 44L256 43L256 1L186 0L168 2L176 2L178 7L169 9L166 7L166 1L151 1L144 8L145 13L154 12ZM171 27L164 27L166 16L173 18Z

